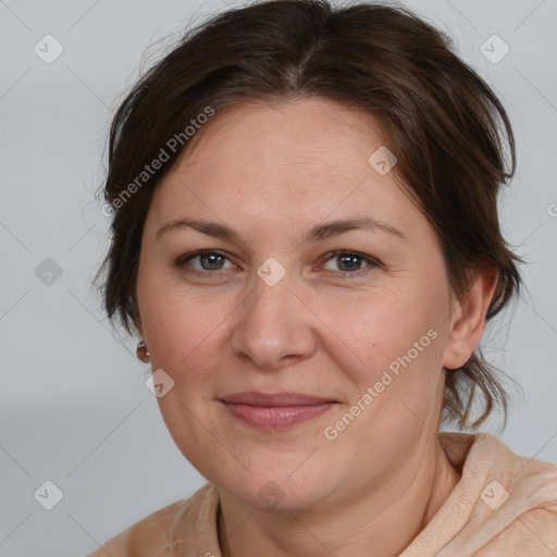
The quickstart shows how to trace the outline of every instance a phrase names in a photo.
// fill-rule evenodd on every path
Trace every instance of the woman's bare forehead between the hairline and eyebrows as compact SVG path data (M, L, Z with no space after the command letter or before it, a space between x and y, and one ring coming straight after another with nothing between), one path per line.
M329 215L409 225L420 219L394 172L381 175L369 163L384 146L379 125L333 101L230 107L195 139L154 193L151 220L159 225L181 212L234 227L265 222L275 232Z

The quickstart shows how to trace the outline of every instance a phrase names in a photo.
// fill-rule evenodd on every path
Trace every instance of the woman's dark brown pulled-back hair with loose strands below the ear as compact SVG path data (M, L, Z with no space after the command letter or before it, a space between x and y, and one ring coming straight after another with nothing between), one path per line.
M103 188L107 203L117 210L110 250L95 278L108 268L101 288L111 322L117 314L128 333L131 325L138 332L143 227L157 183L188 146L186 126L199 124L208 108L218 113L245 100L310 96L355 108L381 124L398 159L397 177L441 240L456 296L466 295L470 271L488 260L498 283L487 320L507 305L520 287L521 259L500 234L497 193L513 174L515 140L492 89L453 52L448 37L404 8L277 0L213 15L188 30L121 103ZM144 186L137 177L147 178L145 165L163 150L164 163ZM444 419L475 429L500 404L506 420L508 395L495 371L476 349L465 366L447 372ZM476 399L482 408L471 422Z

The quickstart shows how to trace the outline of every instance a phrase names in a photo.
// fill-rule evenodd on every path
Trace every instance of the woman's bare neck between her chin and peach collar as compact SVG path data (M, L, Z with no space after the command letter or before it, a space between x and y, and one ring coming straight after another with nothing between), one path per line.
M357 497L295 512L257 509L220 490L222 557L400 554L460 480L436 440L416 457Z

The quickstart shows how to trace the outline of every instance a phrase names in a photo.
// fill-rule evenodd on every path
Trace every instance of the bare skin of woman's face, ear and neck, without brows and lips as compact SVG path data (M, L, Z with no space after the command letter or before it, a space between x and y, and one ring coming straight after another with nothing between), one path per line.
M224 557L397 555L459 481L436 437L443 368L462 366L479 343L496 274L479 272L456 301L433 228L395 172L380 175L368 162L382 145L372 121L329 100L238 104L211 119L153 195L140 329L152 370L174 381L159 398L166 426L219 487ZM242 240L186 226L156 237L184 216L225 224ZM357 216L404 238L359 230L302 243L313 225ZM200 249L225 257L175 264ZM343 262L335 250L363 257ZM274 286L257 273L270 257L286 271ZM325 428L428 331L435 338L326 438ZM260 431L220 401L243 391L338 404ZM282 496L273 507L259 495L269 482Z

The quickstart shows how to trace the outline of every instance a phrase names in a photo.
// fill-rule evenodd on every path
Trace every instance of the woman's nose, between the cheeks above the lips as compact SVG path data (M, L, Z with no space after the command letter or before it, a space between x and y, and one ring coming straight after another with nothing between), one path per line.
M259 276L235 314L232 348L258 370L281 370L315 350L318 318L286 274L270 286Z

